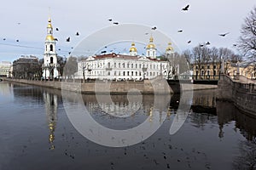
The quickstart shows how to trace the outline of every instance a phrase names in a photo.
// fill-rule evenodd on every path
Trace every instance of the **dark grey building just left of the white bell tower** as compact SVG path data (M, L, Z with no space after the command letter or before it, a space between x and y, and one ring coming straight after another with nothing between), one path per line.
M15 78L34 79L40 78L41 74L41 65L36 56L21 56L13 62L13 77Z

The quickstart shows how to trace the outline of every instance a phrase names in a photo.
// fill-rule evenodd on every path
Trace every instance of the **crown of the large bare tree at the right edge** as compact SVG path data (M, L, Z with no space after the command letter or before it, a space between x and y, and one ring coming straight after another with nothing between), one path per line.
M238 48L249 59L256 59L256 7L251 10L241 26Z

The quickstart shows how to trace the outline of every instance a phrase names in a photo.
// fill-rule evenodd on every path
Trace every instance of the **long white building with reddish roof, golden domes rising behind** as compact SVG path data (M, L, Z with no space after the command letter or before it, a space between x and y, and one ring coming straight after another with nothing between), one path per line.
M172 48L167 48L172 50ZM169 51L166 50L166 53ZM135 43L131 43L130 54L102 54L90 56L78 63L77 78L140 81L154 77L168 77L169 61L156 57L153 37L146 47L146 56L137 55Z

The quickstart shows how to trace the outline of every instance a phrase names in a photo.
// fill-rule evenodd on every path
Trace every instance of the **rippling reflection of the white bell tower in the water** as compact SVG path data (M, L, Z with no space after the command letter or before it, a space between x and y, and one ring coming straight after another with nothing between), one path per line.
M49 144L50 150L55 149L54 140L55 140L55 126L57 122L57 110L58 110L58 98L55 94L49 94L44 92L44 105L45 112L47 116L47 122L49 126Z

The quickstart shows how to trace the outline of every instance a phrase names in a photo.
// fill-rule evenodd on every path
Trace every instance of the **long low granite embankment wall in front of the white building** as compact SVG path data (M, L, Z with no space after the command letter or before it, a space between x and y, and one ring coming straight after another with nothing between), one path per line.
M3 78L4 81L20 82L46 88L70 90L83 94L127 94L140 92L141 94L173 94L168 83L161 79L144 82L57 82L57 81L34 81L24 79ZM136 92L135 92L136 93Z

